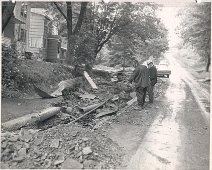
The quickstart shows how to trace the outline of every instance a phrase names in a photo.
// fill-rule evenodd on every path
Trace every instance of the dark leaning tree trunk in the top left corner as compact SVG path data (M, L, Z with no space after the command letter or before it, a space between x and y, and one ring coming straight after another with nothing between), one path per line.
M12 18L13 11L16 3L12 3L11 1L2 2L2 33Z

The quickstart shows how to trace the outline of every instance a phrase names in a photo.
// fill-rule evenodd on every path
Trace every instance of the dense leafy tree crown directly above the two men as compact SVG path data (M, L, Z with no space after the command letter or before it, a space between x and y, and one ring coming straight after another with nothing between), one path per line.
M135 59L142 62L168 50L167 30L155 15L157 6L137 3L132 9L129 24L111 39L110 63L131 65Z

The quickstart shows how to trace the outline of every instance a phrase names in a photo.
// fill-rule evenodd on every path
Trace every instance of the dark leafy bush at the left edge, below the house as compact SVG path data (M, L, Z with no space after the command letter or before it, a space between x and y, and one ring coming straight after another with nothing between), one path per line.
M14 89L14 79L17 76L18 52L14 46L2 45L2 85L4 88Z

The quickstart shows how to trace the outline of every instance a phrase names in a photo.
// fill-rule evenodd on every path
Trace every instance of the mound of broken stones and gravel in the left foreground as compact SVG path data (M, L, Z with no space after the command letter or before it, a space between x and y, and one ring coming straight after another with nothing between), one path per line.
M111 145L115 144L99 132L90 133L73 124L44 131L21 129L1 137L2 168L110 168L109 164L115 167L120 163L113 160L122 154L118 149L112 154Z

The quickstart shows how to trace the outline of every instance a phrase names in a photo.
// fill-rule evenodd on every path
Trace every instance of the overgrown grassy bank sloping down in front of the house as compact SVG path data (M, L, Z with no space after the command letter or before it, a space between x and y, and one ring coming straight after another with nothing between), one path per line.
M12 88L3 87L3 97L22 98L26 94L34 93L33 84L48 92L53 91L57 84L72 78L72 69L59 63L35 60L17 61L16 76L13 78Z

